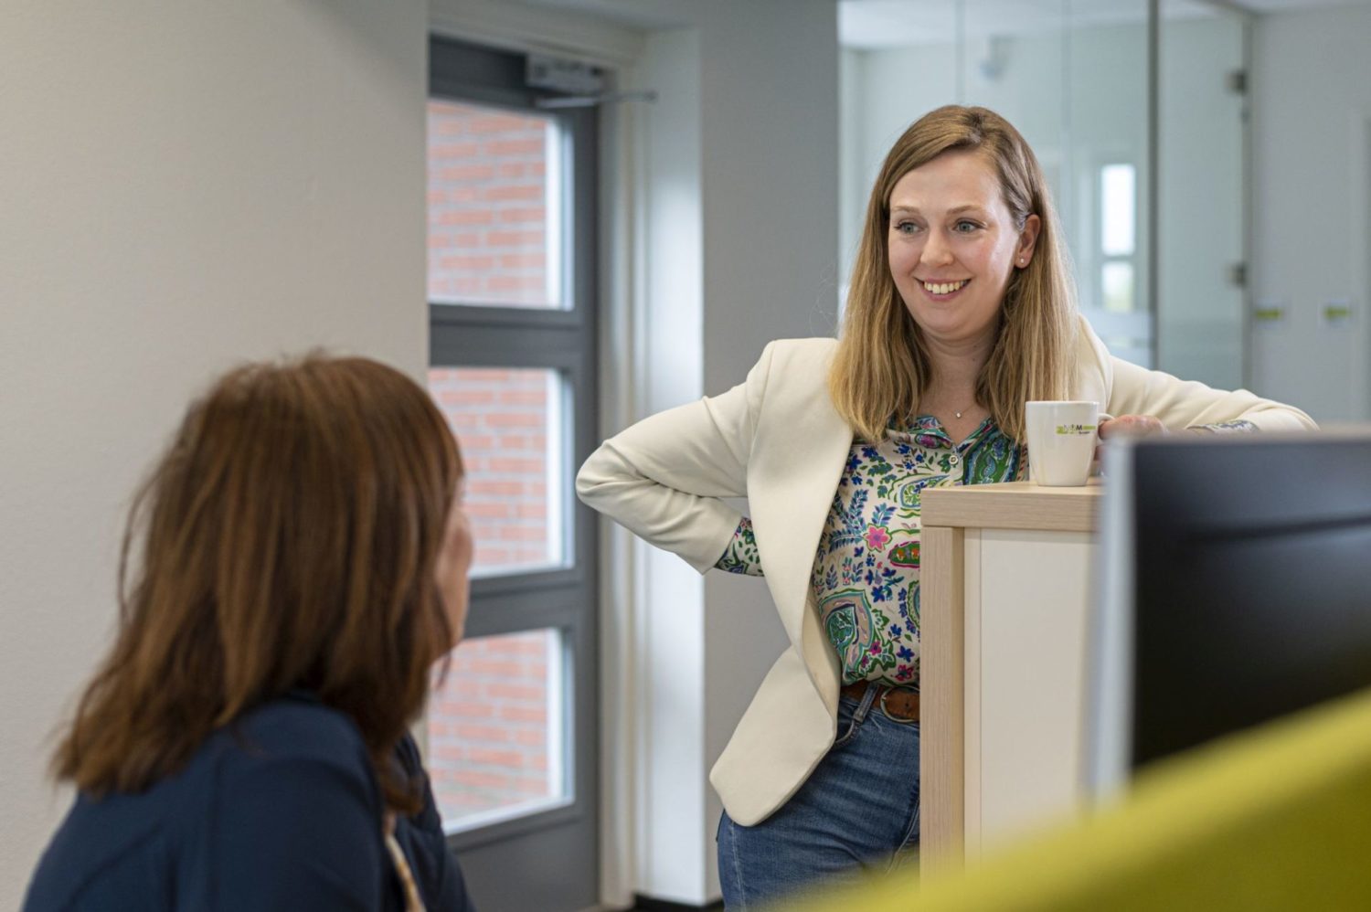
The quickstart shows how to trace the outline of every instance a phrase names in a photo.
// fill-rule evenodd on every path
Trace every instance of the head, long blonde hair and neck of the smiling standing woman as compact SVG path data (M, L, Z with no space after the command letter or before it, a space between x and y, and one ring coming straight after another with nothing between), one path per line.
M834 398L853 425L873 437L891 414L925 413L961 439L994 417L1021 440L1023 403L1065 396L1076 321L1047 181L1023 136L956 106L909 128L872 188L835 359Z

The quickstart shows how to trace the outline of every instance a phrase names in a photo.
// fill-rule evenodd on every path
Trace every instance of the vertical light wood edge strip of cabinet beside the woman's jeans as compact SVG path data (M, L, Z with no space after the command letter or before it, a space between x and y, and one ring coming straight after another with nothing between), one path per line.
M958 868L965 839L965 532L923 527L920 863Z

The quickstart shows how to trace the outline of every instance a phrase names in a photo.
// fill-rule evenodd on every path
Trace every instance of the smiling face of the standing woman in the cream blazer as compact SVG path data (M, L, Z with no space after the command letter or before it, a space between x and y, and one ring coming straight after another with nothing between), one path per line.
M998 326L1010 272L1032 258L1039 219L1017 230L984 155L947 152L890 193L887 254L895 288L924 335L980 341Z

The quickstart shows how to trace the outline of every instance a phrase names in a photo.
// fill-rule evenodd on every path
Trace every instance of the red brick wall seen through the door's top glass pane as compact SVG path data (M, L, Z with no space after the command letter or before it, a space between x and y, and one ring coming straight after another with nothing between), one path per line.
M550 122L429 101L429 300L548 300Z

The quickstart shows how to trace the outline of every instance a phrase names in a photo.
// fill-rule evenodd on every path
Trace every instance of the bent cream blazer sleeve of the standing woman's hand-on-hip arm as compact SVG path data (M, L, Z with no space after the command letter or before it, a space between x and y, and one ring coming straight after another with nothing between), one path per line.
M721 498L747 494L773 344L728 392L654 414L602 443L576 476L581 501L701 573L714 566L743 518Z

